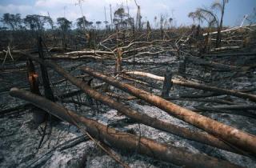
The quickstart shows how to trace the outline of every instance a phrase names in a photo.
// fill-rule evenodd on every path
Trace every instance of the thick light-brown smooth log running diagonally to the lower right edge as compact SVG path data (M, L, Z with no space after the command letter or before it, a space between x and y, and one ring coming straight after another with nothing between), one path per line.
M242 130L235 129L232 126L227 126L211 118L206 118L205 116L197 114L194 111L187 110L186 108L178 106L154 94L150 94L144 90L139 90L138 88L126 83L119 82L113 77L95 72L89 67L82 67L82 70L95 78L99 78L104 82L110 83L110 85L118 87L120 90L124 90L138 98L142 98L146 102L165 110L170 115L180 118L185 122L201 128L202 130L206 130L206 132L210 134L214 134L214 136L223 139L225 142L228 142L241 150L246 150L252 154L256 154L256 136L253 134L248 134Z

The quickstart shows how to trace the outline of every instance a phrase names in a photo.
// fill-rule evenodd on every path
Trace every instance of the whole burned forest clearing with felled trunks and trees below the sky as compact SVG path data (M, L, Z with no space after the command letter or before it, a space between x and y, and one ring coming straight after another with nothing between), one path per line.
M255 167L256 26L153 28L136 6L104 29L3 16L1 167Z

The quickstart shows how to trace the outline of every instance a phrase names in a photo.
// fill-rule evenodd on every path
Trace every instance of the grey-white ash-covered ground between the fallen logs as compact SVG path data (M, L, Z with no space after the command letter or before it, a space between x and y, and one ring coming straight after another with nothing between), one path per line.
M227 61L228 60L228 61ZM138 60L139 61L139 60ZM255 61L253 57L236 57L236 58L216 58L215 61L226 63L239 62L246 64ZM124 70L140 70L150 72L159 76L163 76L166 70L166 65L161 62L168 62L168 66L174 73L175 78L181 78L178 76L178 60L171 56L159 56L156 58L144 58L139 62L152 62L155 65L130 65L124 64ZM65 67L71 74L80 75L83 74L79 70L80 66L90 66L95 70L99 70L105 73L113 72L114 62L94 62L94 61L65 61L58 64ZM104 64L104 65L102 65ZM16 62L16 66L25 67L25 62ZM10 63L10 66L11 63ZM39 70L38 70L39 71ZM189 64L186 69L186 78L195 82L202 82L222 88L234 89L234 90L252 90L251 93L256 94L253 90L256 86L256 71L251 70L246 74L232 73L232 72L219 72L209 70L202 66L194 66ZM39 74L40 76L40 74ZM52 88L55 95L63 93L69 93L73 90L78 90L75 86L72 86L70 82L58 82L62 78L52 70L49 71L50 82L52 82ZM18 98L12 98L8 94L8 90L11 87L18 87L25 90L29 90L28 83L26 82L26 69L23 71L17 71L9 73L1 73L1 108L2 110L10 107L18 106L26 103ZM146 82L151 83L154 87L141 86L134 82L134 86L142 90L147 90L154 94L161 94L162 82L157 82L152 79L146 79ZM58 82L57 84L55 82ZM124 81L123 82L128 82ZM94 79L93 86L101 83ZM121 95L128 95L110 86L110 90L114 93ZM99 91L102 92L100 89ZM102 92L103 93L103 92ZM182 94L202 94L205 93L202 90L194 90L185 88L182 86L174 86L170 91L170 97L178 97ZM220 95L212 97L213 99L230 100L234 102L240 102L243 104L251 104L248 100L242 100L234 98L232 96ZM82 102L88 102L89 98L86 94L80 94L69 98L71 100L78 100ZM165 122L170 122L178 126L183 126L191 130L198 130L194 126L186 124L181 120L174 118L166 112L159 110L155 106L143 102L142 100L122 101L120 102L131 106L134 110L138 110L140 113L145 113L151 117L161 119ZM210 102L195 102L195 101L178 101L173 100L179 106L183 106L189 109L193 109L194 106L212 106ZM125 116L118 113L116 110L112 110L107 106L102 105L99 102L90 100L90 103L94 106L91 109L87 106L78 106L74 103L64 103L59 101L58 103L66 106L70 110L76 111L78 114L86 116L88 118L94 118L105 125L112 126L118 130L127 131L133 134L138 134L148 138L153 138L158 142L165 142L178 147L186 148L191 153L208 154L216 158L222 158L228 160L240 166L256 167L256 161L253 158L246 156L233 154L224 150L218 150L214 147L202 145L198 142L192 142L184 138L179 138L174 134L169 134L160 130L156 130L149 126L145 126L140 123L130 121ZM98 108L98 110L95 110ZM250 113L256 112L250 110ZM226 123L227 125L234 126L240 130L244 130L251 134L256 134L256 120L255 118L249 118L242 115L234 114L222 114L222 113L202 113L210 118L214 118L219 122ZM88 138L84 138L84 135L76 128L71 126L67 122L58 123L42 123L36 128L31 122L32 114L30 109L21 110L18 113L4 115L0 118L0 166L1 167L121 167L117 162L114 162L107 154L105 154L94 142ZM47 125L47 126L46 126ZM46 136L43 139L42 146L38 148L42 139L42 134L46 126ZM198 130L201 131L201 130ZM130 167L178 167L170 163L161 162L152 158L147 158L140 154L126 153L126 151L120 151L113 148L113 150L120 154L122 160L126 162Z

